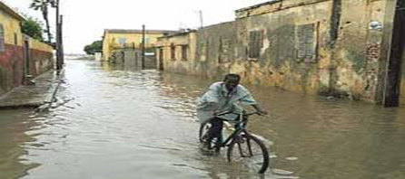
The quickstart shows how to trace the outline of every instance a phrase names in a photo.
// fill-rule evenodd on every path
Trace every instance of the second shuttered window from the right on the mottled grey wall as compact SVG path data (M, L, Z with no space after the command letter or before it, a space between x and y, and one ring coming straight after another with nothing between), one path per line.
M260 57L263 47L263 31L255 30L249 33L249 58L256 59Z

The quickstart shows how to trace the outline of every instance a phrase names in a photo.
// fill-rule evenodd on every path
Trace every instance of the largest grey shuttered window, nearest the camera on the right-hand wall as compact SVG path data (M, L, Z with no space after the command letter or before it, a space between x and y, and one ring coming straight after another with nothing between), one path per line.
M316 61L315 25L303 24L296 28L297 58L303 61Z

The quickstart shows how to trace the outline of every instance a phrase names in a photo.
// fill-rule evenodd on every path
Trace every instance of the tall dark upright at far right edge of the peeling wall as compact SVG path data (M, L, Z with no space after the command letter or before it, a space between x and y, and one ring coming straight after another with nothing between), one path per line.
M400 78L402 55L405 47L405 1L397 0L392 40L390 44L390 56L387 65L385 79L384 107L400 106Z

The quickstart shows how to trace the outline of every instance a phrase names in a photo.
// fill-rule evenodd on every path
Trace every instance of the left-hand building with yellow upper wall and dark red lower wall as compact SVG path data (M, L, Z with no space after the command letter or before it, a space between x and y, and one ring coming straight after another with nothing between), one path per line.
M21 32L25 18L0 2L0 95L53 68L54 49Z

